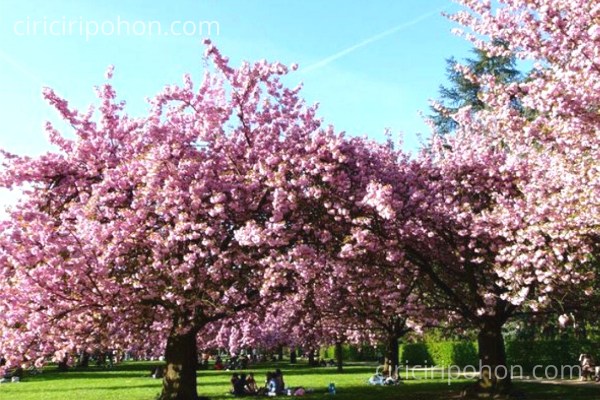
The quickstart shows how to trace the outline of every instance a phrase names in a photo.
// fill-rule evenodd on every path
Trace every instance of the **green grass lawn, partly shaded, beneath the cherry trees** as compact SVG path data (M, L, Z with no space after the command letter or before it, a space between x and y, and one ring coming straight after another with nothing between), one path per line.
M130 362L106 370L90 367L84 370L58 372L48 367L41 375L26 377L23 382L0 385L0 400L152 400L160 392L161 382L149 377L156 363ZM306 365L289 363L265 364L249 369L254 372L259 385L265 373L281 368L286 385L312 388L315 393L307 399L331 397L327 386L334 382L339 400L445 400L456 398L469 380L455 380L448 385L440 377L406 380L404 384L393 387L374 387L367 385L367 379L373 374L374 366L351 364L344 373L333 368L309 368ZM228 394L231 372L199 371L199 393L211 399L233 399ZM527 400L597 400L600 399L600 384L589 386L543 385L538 383L517 383L519 390L526 393ZM267 397L265 397L267 398Z

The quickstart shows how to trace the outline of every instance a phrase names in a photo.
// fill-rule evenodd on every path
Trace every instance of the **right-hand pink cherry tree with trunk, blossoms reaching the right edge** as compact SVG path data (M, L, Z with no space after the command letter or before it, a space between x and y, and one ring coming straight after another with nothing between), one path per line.
M506 363L501 328L516 310L595 286L600 6L459 3L466 10L451 18L480 51L515 55L534 70L502 82L462 68L484 106L459 110L456 134L424 154L429 210L423 232L410 239L402 228L401 243L442 304L478 327L480 358L493 369ZM482 383L499 390L510 380L492 371Z

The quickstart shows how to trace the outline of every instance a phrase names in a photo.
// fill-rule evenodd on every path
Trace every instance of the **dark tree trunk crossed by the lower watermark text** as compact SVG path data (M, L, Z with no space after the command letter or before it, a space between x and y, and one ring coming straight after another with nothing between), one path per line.
M502 337L502 324L487 321L479 331L480 378L478 392L508 393L511 386L510 370L506 365L506 351Z

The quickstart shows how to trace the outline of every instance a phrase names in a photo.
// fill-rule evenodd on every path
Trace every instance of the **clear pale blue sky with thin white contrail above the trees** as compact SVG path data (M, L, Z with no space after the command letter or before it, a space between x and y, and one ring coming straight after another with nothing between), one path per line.
M214 21L218 32L211 25L210 37L235 63L298 63L300 70L287 82L304 83L304 97L320 103L327 123L374 138L390 128L402 132L405 148L414 150L418 134L428 132L419 111L427 112L428 99L444 83L445 59L469 55L469 44L450 33L454 24L440 15L442 9L457 6L451 0L3 0L0 147L32 155L49 150L42 125L56 114L42 100L41 87L85 109L110 64L129 111L143 113L145 97L165 84L181 82L185 72L200 76L201 41L208 33L200 21ZM149 34L150 21L160 23L163 34ZM171 31L176 21L177 31ZM190 35L182 34L185 21ZM49 34L52 22L55 35ZM93 33L94 24L115 33L86 37L86 27ZM146 34L133 32L133 24L137 33L145 24ZM194 26L196 33L190 32ZM5 204L6 192L0 196Z

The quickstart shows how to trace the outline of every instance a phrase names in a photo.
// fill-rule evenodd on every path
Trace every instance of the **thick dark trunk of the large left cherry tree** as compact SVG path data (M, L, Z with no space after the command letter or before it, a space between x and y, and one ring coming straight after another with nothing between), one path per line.
M196 332L192 331L183 335L172 333L167 340L165 361L167 365L159 400L197 400Z

